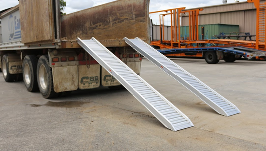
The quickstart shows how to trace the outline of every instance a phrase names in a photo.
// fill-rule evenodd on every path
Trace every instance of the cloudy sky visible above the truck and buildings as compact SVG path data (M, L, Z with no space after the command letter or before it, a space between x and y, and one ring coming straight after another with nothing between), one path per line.
M87 9L93 6L98 6L101 4L105 4L108 2L116 1L116 0L64 0L67 2L67 6L64 9L64 12L67 14L76 12L79 10ZM240 2L244 2L247 0L238 0ZM227 0L227 3L234 3L235 0ZM0 11L16 6L18 4L18 0L0 0ZM186 7L186 9L190 8L198 8L204 6L212 6L223 4L223 0L150 0L150 12L166 10L172 8L180 8ZM153 20L154 24L159 24L159 15L154 14L150 16Z

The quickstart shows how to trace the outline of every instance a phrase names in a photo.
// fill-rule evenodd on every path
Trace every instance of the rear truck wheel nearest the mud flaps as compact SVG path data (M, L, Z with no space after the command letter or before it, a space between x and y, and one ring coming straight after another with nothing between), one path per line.
M52 68L49 66L48 55L39 58L37 64L38 87L44 98L53 98L58 94L54 91Z

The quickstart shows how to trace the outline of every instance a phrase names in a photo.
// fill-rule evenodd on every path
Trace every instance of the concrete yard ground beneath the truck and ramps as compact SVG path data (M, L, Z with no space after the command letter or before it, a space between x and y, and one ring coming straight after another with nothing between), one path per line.
M234 103L225 117L143 59L141 77L194 127L165 128L127 90L44 99L0 73L0 151L266 151L266 61L172 60Z

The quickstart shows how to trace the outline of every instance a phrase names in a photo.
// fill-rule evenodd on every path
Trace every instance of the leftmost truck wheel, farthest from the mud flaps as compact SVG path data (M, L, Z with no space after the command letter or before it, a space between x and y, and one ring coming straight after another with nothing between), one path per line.
M9 73L9 64L7 62L7 55L3 55L2 73L3 73L3 78L6 82L13 82L15 80L15 75Z

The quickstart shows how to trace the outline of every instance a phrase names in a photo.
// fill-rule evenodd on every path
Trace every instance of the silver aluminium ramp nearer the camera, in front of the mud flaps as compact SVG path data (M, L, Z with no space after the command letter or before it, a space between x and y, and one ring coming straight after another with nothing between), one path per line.
M95 38L91 40L81 40L78 38L77 41L79 45L113 75L165 127L177 131L194 126L186 115Z

